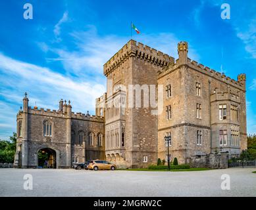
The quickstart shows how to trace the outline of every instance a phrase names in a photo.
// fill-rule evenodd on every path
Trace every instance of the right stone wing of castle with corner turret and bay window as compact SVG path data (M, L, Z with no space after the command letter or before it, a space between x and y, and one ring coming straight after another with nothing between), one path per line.
M163 103L164 109L171 107L171 117L166 119L166 112L158 117L159 158L167 154L166 133L172 138L170 159L179 163L216 152L237 156L247 148L245 75L235 81L192 61L186 42L178 44L178 55L158 77L159 84L171 87Z

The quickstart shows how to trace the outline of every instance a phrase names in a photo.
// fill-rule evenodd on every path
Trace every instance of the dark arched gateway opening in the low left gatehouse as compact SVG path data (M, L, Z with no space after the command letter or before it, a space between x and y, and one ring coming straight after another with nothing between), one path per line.
M38 150L38 167L57 168L57 152L51 148Z

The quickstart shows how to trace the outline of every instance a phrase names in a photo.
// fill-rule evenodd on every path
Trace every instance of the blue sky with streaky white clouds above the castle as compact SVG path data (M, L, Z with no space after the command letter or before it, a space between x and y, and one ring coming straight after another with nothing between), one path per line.
M34 19L23 18L31 3ZM220 18L230 4L230 20ZM256 4L249 1L0 1L0 138L16 131L16 113L28 92L30 106L57 110L60 98L74 112L94 113L105 92L103 64L130 39L177 58L189 56L237 78L247 74L247 133L256 133Z

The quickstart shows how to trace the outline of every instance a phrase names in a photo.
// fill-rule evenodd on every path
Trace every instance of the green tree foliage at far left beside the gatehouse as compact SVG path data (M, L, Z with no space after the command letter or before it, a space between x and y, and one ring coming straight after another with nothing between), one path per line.
M10 140L0 140L0 163L13 163L16 152L16 133Z

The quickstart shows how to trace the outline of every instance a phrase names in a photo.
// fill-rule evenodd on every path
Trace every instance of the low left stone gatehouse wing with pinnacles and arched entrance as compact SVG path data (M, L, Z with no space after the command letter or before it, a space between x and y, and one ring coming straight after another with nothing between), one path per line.
M38 152L43 149L54 152L51 167L56 168L70 168L72 163L90 159L105 159L104 129L103 116L74 114L70 102L67 105L61 100L58 111L38 110L28 106L25 96L23 110L17 114L14 167L38 167Z

